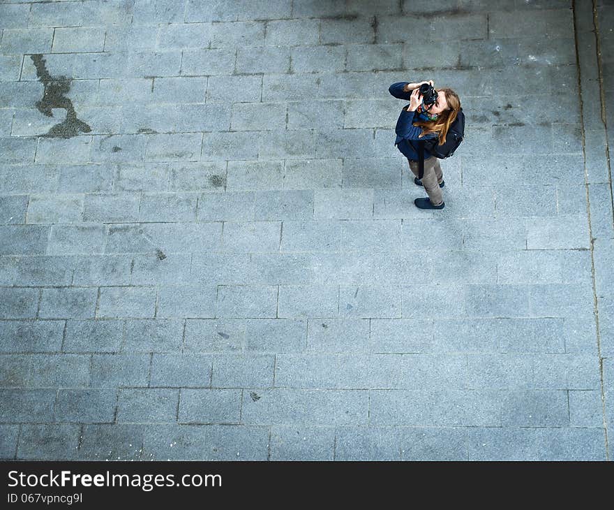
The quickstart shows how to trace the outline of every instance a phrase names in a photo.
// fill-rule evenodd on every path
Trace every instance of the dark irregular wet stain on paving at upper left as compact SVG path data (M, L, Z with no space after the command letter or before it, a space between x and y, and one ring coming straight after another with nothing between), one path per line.
M91 127L80 119L77 119L77 113L73 106L73 101L70 101L65 94L70 91L70 79L66 76L59 76L57 78L52 77L47 66L45 65L45 59L42 54L30 55L34 66L36 67L36 76L38 80L45 85L45 91L43 92L43 99L36 101L36 108L43 115L47 117L53 117L53 108L61 108L66 110L66 119L47 131L47 134L43 136L59 137L59 138L72 138L77 136L78 133L89 133Z

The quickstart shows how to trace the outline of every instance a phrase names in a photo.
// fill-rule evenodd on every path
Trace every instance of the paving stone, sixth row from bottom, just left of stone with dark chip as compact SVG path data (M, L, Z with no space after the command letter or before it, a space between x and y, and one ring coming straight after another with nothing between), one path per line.
M55 257L59 258L59 257ZM75 256L72 284L75 286L130 284L130 257L123 255Z

